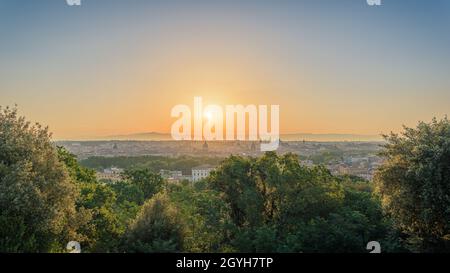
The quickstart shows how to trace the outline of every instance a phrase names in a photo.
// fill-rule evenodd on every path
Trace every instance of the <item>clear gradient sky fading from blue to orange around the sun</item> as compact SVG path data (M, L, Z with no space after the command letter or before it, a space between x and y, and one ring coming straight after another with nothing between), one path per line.
M450 1L0 0L0 105L56 139L169 132L176 104L279 104L283 133L450 109Z

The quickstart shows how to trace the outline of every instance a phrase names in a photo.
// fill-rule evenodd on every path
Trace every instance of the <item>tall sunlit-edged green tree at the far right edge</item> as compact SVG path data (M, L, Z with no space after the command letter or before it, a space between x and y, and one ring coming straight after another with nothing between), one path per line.
M450 250L450 123L420 122L385 136L375 176L385 210L416 251Z

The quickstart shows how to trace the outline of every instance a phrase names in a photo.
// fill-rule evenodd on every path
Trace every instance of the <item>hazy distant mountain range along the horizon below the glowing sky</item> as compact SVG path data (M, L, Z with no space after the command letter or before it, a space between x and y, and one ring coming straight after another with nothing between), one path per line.
M358 134L282 134L281 140L284 141L382 141L380 135L358 135ZM90 138L90 140L147 140L164 141L172 140L168 133L148 132L127 135L113 135L105 137Z

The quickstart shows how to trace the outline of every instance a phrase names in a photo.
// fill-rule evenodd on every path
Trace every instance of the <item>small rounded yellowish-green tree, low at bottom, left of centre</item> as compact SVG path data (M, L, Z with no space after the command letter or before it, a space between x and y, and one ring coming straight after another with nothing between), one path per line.
M184 223L164 193L148 200L126 234L127 252L177 252L183 249Z

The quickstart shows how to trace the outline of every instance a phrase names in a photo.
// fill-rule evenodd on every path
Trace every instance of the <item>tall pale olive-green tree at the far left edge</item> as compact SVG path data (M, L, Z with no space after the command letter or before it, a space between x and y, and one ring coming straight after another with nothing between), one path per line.
M0 252L62 251L86 219L47 128L0 108Z

